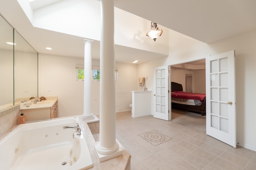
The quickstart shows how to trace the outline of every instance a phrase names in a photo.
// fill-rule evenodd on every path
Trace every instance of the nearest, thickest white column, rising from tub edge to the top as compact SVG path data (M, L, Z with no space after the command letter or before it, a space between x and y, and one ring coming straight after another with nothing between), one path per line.
M114 0L101 0L100 39L100 162L122 154L116 141Z

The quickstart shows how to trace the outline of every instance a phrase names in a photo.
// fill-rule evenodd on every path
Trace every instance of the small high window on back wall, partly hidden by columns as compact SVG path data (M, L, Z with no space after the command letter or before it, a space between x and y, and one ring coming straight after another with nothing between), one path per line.
M84 68L83 66L76 66L76 80L84 81ZM100 69L92 68L92 80L100 80ZM118 70L115 70L115 80L118 81Z

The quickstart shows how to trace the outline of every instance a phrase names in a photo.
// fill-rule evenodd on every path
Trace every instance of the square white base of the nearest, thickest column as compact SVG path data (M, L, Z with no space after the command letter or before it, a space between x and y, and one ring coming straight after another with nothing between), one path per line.
M98 150L102 150L100 148L100 142L96 143L96 145L94 147L95 147L96 155L97 155L97 158L98 158L99 162L104 162L106 160L109 160L109 159L112 159L112 158L115 158L117 156L122 155L123 147L122 147L122 145L118 141L116 141L116 142L117 142L117 146L116 146L117 150L116 150L116 147L114 147L113 149L110 149L108 151L107 150L103 150L103 152L110 152L111 150L116 150L113 153L110 152L108 154L100 154L98 152Z

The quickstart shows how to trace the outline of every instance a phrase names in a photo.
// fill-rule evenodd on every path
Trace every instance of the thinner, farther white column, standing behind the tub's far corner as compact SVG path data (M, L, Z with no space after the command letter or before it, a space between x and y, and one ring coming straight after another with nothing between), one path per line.
M91 111L92 100L92 43L91 39L84 39L84 113L83 118L93 118Z

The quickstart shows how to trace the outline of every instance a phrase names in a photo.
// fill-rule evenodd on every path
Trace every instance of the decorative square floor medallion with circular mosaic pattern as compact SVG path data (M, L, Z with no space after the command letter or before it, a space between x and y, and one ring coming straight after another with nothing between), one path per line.
M154 146L160 145L161 143L164 143L172 139L156 130L141 133L139 134L139 136Z

